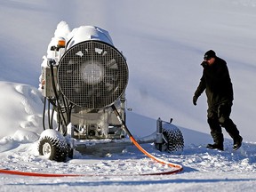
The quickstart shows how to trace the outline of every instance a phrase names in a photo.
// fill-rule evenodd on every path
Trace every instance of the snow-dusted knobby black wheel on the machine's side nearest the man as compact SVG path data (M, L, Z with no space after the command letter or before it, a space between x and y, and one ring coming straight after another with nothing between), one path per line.
M167 152L182 152L184 148L184 139L182 132L178 127L172 125L172 127L163 128L164 135L164 151Z

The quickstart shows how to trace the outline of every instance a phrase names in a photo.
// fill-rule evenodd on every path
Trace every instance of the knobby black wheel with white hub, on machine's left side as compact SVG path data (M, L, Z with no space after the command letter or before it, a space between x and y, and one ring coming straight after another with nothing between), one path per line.
M65 162L68 157L68 145L66 141L50 136L44 136L38 144L41 156L57 162Z

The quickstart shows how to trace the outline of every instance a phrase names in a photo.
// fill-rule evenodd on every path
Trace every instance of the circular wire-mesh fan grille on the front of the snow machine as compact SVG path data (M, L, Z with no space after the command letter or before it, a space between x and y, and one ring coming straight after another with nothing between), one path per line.
M107 107L121 96L127 83L126 61L112 45L84 41L68 49L60 60L60 92L76 106Z

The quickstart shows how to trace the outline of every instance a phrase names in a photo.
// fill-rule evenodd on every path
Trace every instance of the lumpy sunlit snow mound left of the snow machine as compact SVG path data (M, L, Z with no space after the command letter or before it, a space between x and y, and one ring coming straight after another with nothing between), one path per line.
M43 98L28 84L0 82L0 151L38 140L43 131Z

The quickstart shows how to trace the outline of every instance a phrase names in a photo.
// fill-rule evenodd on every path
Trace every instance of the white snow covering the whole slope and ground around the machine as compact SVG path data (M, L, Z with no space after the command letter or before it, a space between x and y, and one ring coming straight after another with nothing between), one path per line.
M0 191L255 191L256 0L3 0L0 17L0 169L87 175L0 174ZM43 98L37 90L38 76L61 20L68 25L62 22L60 36L85 25L109 32L129 67L128 128L142 137L156 130L158 117L172 117L183 133L184 151L162 153L150 143L142 147L164 161L181 164L182 172L138 175L170 168L134 146L107 156L75 151L66 163L39 156ZM202 75L200 63L209 49L228 62L235 91L231 117L244 138L237 151L226 133L224 151L205 148L212 142L205 96L196 107L192 104Z

